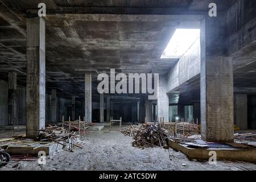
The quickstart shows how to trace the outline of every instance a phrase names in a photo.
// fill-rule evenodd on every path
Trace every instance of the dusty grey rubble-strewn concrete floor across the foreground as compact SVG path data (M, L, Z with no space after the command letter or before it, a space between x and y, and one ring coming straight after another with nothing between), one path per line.
M6 136L6 133L0 136ZM168 150L134 148L131 146L132 138L107 128L88 133L82 140L84 148L74 152L55 152L47 157L46 165L39 166L37 161L19 161L11 162L0 170L256 170L255 164L244 162L218 161L217 165L195 162L174 150L171 150L170 160Z

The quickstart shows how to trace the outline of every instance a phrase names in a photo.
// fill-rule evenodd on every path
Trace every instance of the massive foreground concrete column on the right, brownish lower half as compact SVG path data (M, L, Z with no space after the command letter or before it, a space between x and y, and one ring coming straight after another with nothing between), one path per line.
M233 64L226 57L225 16L201 22L201 138L233 142Z

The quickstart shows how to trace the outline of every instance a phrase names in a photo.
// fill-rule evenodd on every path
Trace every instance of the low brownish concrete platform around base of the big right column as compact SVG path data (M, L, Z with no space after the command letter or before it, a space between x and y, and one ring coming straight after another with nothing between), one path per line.
M210 151L215 151L217 160L232 160L256 163L256 148L249 147L244 144L227 143L228 148L191 148L185 144L174 142L168 139L168 144L176 151L181 151L187 155L189 159L209 160Z

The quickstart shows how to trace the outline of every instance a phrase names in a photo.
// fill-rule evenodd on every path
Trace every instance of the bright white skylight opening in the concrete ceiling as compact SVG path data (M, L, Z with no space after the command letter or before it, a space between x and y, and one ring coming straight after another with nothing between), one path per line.
M160 59L180 59L200 39L200 29L177 28Z

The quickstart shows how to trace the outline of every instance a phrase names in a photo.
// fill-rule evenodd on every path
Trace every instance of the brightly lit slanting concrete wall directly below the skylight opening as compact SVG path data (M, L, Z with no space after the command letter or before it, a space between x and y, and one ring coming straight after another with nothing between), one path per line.
M167 92L200 74L200 39L188 49L167 75Z

